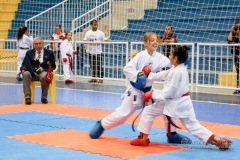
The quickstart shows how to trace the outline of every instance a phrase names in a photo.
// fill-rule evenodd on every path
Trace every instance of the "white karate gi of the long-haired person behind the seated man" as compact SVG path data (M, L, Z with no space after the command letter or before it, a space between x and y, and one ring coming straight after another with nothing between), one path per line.
M20 72L20 68L22 66L23 59L26 55L26 52L33 46L33 37L23 35L22 39L17 41L17 50L18 50L18 65L17 65L17 73Z

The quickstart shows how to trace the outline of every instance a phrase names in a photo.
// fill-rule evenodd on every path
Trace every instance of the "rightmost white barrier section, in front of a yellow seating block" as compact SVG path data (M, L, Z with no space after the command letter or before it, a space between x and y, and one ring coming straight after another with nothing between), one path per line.
M237 87L235 50L240 44L197 43L196 86L233 89Z

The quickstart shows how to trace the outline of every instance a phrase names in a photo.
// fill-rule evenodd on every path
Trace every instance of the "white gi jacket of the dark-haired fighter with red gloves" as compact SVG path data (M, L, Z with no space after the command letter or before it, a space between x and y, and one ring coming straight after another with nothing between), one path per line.
M190 96L183 96L189 91L189 76L186 66L182 63L165 74L165 84L162 90L155 90L152 98L155 101L165 101L165 115L175 118L189 118L195 116ZM149 74L149 78L154 79L157 74ZM161 79L163 79L161 77Z

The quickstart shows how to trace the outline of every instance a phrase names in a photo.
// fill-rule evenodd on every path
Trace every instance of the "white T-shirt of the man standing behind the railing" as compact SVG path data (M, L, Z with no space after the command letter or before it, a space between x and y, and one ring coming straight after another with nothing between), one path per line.
M105 34L100 30L89 30L86 32L84 41L93 40L93 42L103 42L107 40L105 38ZM102 45L101 44L89 44L87 53L90 54L101 54L102 53Z

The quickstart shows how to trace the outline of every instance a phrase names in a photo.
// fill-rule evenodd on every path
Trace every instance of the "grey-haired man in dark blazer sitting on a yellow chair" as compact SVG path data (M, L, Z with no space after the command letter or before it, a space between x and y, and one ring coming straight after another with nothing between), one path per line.
M55 57L51 50L43 48L42 38L35 38L33 46L34 49L27 51L21 67L25 103L27 105L31 104L31 81L40 81L42 87L41 102L47 104L49 82L46 81L46 74L50 63L52 70L56 68Z

